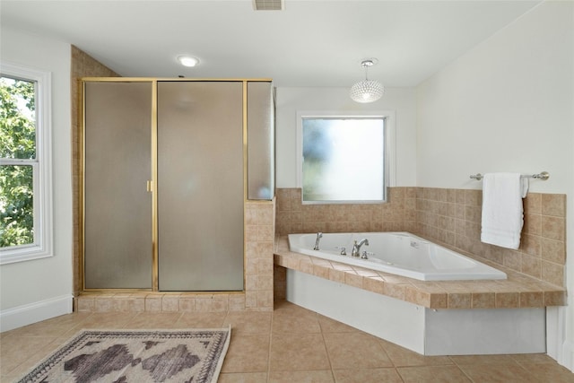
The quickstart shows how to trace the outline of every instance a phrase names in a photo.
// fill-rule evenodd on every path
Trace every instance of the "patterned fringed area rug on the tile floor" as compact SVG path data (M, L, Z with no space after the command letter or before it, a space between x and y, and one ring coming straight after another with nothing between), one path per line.
M216 382L231 328L83 330L20 382Z

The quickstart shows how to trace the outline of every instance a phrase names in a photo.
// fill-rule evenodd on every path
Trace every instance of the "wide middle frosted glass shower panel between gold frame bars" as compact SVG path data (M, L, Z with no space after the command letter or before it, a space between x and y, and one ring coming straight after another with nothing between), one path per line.
M243 290L240 82L158 83L161 291Z

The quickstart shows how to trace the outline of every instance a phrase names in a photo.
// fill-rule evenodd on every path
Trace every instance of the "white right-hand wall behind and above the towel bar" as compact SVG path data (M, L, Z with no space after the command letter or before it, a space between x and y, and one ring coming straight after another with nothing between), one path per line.
M530 190L566 194L574 291L574 3L547 2L417 88L418 187L480 188L477 172L550 172ZM574 360L569 294L561 363Z

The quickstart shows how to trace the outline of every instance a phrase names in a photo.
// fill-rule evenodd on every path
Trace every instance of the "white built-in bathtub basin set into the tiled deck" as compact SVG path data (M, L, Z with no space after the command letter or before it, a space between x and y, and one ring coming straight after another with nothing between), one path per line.
M358 257L352 256L355 242L363 243ZM420 281L507 278L506 273L490 265L408 232L289 234L289 247L308 256Z

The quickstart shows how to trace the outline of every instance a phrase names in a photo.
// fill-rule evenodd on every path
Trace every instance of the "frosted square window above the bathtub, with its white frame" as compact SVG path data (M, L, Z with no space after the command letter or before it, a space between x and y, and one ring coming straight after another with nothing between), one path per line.
M298 119L298 183L304 204L386 200L389 141L394 139L390 113L300 113Z

